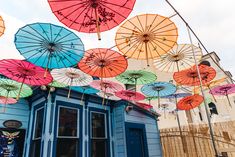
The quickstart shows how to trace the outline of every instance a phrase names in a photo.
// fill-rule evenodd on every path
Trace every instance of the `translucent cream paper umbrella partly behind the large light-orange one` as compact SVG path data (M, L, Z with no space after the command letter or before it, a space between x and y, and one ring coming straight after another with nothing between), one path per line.
M202 51L199 47L190 44L176 44L168 53L154 59L154 65L160 71L179 72L195 65L193 53L199 62L202 58Z

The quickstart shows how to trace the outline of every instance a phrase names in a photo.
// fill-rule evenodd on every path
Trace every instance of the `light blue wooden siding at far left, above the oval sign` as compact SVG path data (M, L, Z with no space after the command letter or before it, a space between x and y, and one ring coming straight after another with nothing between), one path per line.
M3 110L5 105L0 104L0 110ZM0 112L1 112L0 111ZM22 122L22 127L20 129L28 128L29 121L29 105L24 99L21 99L16 104L6 105L6 112L0 113L0 127L3 126L3 122L6 120L18 120Z

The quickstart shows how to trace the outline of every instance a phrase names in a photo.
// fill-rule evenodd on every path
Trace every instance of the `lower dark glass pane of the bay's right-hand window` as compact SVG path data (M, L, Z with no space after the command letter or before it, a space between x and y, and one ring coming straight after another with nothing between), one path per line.
M92 157L106 157L105 140L92 140Z

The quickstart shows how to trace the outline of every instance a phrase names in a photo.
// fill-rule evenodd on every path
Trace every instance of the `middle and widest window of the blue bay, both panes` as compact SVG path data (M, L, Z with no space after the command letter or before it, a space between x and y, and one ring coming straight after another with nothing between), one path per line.
M79 110L59 107L56 157L79 156Z

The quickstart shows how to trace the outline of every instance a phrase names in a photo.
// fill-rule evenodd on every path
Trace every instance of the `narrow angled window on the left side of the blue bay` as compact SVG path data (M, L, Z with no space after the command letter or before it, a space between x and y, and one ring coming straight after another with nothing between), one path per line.
M35 115L36 115L35 116L36 118L34 121L34 132L33 132L30 156L40 157L43 119L44 119L44 107L37 109L35 111Z

